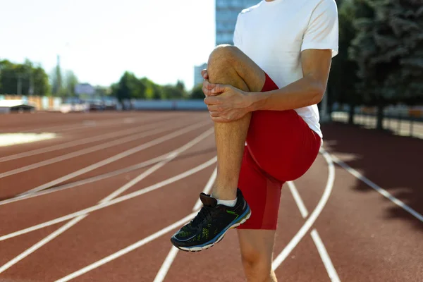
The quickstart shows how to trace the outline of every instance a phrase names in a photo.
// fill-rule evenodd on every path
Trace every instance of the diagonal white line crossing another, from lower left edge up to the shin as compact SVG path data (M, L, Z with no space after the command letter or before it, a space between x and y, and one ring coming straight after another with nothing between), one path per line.
M157 171L159 168L161 168L165 164L168 164L169 161L171 161L171 160L175 159L176 157L178 157L178 155L180 153L185 152L187 149L189 149L190 147L196 145L198 142L200 142L204 138L208 137L213 132L214 132L214 128L210 128L206 132L200 134L199 136L195 137L195 139L193 139L190 142L188 142L187 144L185 144L183 147L180 147L180 149L178 149L177 152L173 152L172 154L168 154L168 157L166 159L164 159L163 161L160 161L158 164L156 164L156 165L152 166L151 168L147 169L147 171L141 173L139 176L137 176L133 180L130 180L128 183L126 183L125 185L123 185L121 188L118 188L117 190L115 190L114 192L112 192L109 196L107 196L103 200L99 201L99 204L102 204L104 202L109 202L114 197L117 197L121 193L125 192L125 190L128 190L129 188L133 187L133 185L139 183L141 180L145 179L147 176L149 176L150 174L154 173L154 171ZM72 221L66 223L66 225L65 225L66 228L63 228L63 227L65 227L65 226L63 226L62 228L59 228L58 230L56 230L53 233L51 233L50 235L48 235L46 238L40 240L35 245L32 245L32 247L30 247L29 249L25 250L24 252L22 252L17 257L11 259L11 261L9 261L6 264L4 264L4 266L1 266L0 267L0 273L2 271L5 271L6 269L10 268L14 264L20 262L20 260L22 260L25 257L29 256L30 254L32 254L32 252L35 252L40 247L46 245L47 243L49 243L50 240L53 240L54 238L56 238L57 236L59 236L61 233L65 232L66 230L68 230L69 228L71 228L72 226L74 226L76 223L78 223L79 221L81 221L82 219L84 219L86 216L87 216L87 214L76 217Z

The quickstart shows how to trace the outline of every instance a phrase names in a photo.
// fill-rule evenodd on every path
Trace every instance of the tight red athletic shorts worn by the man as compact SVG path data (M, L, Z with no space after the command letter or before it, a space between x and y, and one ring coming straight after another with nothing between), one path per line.
M262 92L276 89L266 74ZM321 139L294 110L255 111L246 143L238 187L252 214L238 228L275 230L283 183L312 166Z

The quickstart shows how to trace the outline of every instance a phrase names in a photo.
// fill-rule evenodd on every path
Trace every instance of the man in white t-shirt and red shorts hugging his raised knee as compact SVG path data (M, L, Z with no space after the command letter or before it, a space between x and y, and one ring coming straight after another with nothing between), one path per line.
M271 262L281 187L309 169L321 145L317 104L338 53L336 3L262 0L238 15L233 42L216 47L202 72L216 183L212 195L200 194L202 209L171 242L200 251L239 226L248 281L276 281Z

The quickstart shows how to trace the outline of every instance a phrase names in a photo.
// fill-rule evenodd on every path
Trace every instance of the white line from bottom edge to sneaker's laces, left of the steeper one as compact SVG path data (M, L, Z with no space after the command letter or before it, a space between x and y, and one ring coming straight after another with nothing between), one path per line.
M63 278L60 278L59 280L56 280L55 282L66 282L73 278L76 278L78 276L81 276L82 274L87 273L88 271L91 271L92 269L96 269L99 266L102 266L103 264L106 264L108 262L111 262L114 259L117 259L118 257L121 257L125 254L128 254L128 252L131 252L138 247L141 247L142 245L145 245L149 242L151 242L154 239L159 238L160 236L172 231L175 228L178 228L178 226L183 225L184 223L190 221L195 216L195 212L185 216L183 219L180 219L180 221L176 221L176 223L171 224L170 226L167 226L166 228L161 229L160 231L157 231L156 233L149 235L147 238L144 238L142 240L139 240L137 243L134 243L133 245L129 245L128 247L125 247L122 250L119 250L118 252L115 252L112 255L109 255L108 257L104 257L103 259L98 260L97 262L94 262L93 264L90 264L88 266L85 266L84 268L73 272L72 274L69 274L68 276L65 276Z

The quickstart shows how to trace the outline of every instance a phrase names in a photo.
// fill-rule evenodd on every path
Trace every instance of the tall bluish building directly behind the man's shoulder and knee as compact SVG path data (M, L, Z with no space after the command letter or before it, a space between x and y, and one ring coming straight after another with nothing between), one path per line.
M233 44L238 13L258 4L260 0L216 0L216 45Z

